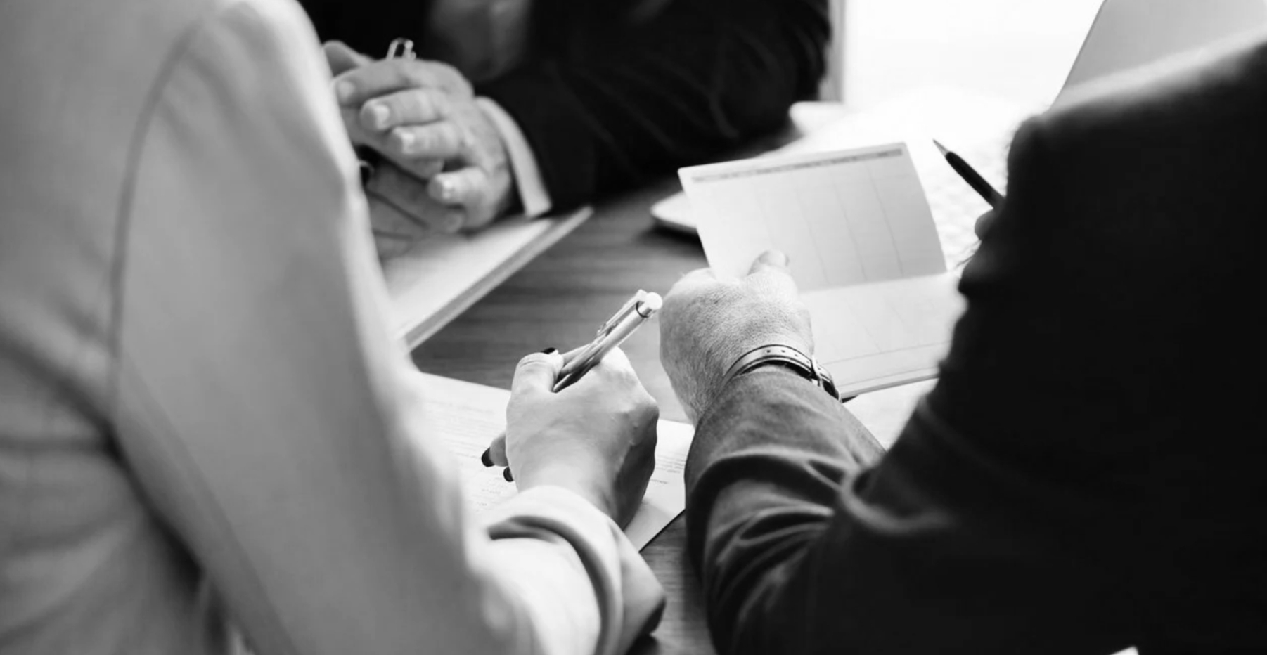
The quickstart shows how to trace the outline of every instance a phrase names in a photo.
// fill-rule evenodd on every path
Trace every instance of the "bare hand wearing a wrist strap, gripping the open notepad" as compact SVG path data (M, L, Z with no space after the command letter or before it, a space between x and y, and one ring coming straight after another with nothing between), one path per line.
M717 398L730 366L772 343L813 353L810 312L782 252L763 253L739 280L718 280L711 269L692 271L664 298L660 362L692 423Z

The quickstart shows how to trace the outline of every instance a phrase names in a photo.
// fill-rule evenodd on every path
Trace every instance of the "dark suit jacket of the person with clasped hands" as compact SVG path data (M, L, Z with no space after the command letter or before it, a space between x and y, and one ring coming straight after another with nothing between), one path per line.
M322 39L419 42L427 0L300 0ZM519 124L556 209L701 163L811 98L826 0L535 0L533 57L476 86ZM658 11L647 15L647 8Z

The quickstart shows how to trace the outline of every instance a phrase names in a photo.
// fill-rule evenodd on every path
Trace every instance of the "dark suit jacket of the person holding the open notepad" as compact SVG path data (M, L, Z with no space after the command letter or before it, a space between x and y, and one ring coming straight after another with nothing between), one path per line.
M892 450L726 388L687 466L721 652L1267 652L1267 43L1030 120Z

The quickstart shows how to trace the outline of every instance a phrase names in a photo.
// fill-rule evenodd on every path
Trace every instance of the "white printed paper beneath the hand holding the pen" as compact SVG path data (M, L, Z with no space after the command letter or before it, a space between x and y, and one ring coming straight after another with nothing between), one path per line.
M476 511L514 495L514 483L502 478L502 469L480 462L484 448L506 428L506 404L511 391L437 375L419 374L428 438L442 438L461 466L466 498ZM687 507L685 462L693 429L685 423L660 421L655 448L655 473L642 506L625 528L641 550Z

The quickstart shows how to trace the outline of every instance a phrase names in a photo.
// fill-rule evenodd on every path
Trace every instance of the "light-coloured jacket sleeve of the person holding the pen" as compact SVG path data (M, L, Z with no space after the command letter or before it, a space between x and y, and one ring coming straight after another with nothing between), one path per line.
M537 488L478 525L428 440L315 43L288 3L233 3L153 95L123 457L261 655L616 652L660 593L614 523Z

